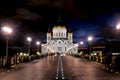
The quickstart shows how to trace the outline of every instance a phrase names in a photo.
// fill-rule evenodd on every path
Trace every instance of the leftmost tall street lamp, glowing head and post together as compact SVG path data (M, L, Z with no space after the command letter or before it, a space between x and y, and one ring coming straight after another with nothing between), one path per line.
M2 27L2 30L6 36L6 66L8 66L8 40L9 40L9 35L12 33L12 28L5 26Z

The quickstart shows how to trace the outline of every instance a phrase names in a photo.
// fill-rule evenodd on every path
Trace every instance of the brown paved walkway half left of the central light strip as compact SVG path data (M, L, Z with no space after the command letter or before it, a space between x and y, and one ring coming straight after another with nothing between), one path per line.
M57 58L48 57L0 73L0 80L55 80Z

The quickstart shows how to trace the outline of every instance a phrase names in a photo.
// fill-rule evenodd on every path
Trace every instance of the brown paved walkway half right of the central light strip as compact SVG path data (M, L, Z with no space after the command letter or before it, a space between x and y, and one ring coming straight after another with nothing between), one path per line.
M98 64L66 56L62 58L66 80L120 80L120 75L107 72Z

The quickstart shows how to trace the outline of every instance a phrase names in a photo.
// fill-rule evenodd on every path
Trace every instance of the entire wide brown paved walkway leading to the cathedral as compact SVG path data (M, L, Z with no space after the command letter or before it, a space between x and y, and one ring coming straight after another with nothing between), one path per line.
M0 80L120 80L120 76L80 58L52 56L0 72Z

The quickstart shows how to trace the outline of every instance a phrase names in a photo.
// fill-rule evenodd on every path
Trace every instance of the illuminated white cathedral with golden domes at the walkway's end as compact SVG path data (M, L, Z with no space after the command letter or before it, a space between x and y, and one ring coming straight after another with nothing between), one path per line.
M46 33L46 43L41 45L41 53L77 54L78 44L73 43L73 33L67 31L67 26L61 20L52 27L52 31Z

